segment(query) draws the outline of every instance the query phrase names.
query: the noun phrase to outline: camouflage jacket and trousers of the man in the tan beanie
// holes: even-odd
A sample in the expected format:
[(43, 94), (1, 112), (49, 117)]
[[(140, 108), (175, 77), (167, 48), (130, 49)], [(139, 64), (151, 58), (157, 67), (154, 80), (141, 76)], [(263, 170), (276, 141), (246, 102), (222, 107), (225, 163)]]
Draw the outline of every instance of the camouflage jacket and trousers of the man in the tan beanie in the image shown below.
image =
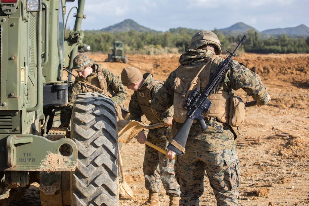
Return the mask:
[[(146, 86), (148, 86), (151, 82), (153, 82), (152, 74), (146, 73), (143, 75), (145, 79), (142, 83), (142, 86), (138, 88), (138, 91), (135, 91), (131, 96), (129, 103), (129, 112), (131, 115), (131, 120), (136, 120), (141, 122), (141, 117), (144, 115), (141, 109), (141, 103), (138, 101), (138, 96), (140, 95), (140, 91), (145, 91)], [(155, 84), (150, 90), (150, 95), (153, 98), (162, 84)], [(144, 94), (145, 96), (145, 94)], [(145, 105), (146, 106), (146, 105)], [(150, 107), (150, 103), (149, 103)], [(149, 108), (150, 109), (150, 108)], [(150, 110), (151, 112), (151, 110)], [(172, 108), (167, 110), (167, 116), (173, 116)], [(150, 124), (158, 123), (151, 122)], [(147, 141), (152, 144), (157, 145), (162, 149), (166, 149), (167, 147), (167, 138), (162, 133), (169, 132), (170, 127), (161, 127), (156, 129), (150, 129), (147, 135)], [(165, 155), (159, 152), (152, 147), (146, 145), (145, 157), (143, 163), (143, 171), (145, 175), (145, 187), (150, 192), (159, 192), (161, 187), (161, 181), (163, 183), (163, 187), (166, 190), (166, 194), (169, 196), (179, 196), (179, 184), (175, 178), (174, 172), (174, 159), (168, 159)], [(161, 179), (161, 180), (160, 180)]]

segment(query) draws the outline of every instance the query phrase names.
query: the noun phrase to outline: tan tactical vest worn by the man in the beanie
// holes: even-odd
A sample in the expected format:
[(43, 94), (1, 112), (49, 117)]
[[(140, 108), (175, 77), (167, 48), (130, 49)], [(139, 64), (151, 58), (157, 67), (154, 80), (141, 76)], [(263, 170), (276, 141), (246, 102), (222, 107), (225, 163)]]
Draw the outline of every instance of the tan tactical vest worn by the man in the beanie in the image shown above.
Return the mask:
[(162, 86), (163, 83), (164, 82), (160, 80), (153, 80), (150, 84), (148, 84), (145, 87), (144, 90), (138, 90), (134, 92), (135, 98), (137, 99), (138, 104), (142, 109), (142, 112), (145, 114), (147, 120), (150, 121), (151, 123), (159, 123), (159, 120), (153, 115), (151, 111), (150, 107), (152, 101), (151, 91), (156, 84), (161, 84)]

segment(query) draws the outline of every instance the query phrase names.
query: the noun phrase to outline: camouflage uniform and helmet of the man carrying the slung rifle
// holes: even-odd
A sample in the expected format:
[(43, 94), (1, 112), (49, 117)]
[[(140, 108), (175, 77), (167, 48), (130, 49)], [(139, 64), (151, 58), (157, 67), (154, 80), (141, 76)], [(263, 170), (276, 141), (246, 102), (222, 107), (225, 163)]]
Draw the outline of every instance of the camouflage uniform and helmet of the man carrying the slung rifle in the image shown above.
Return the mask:
[[(211, 79), (223, 61), (221, 57), (216, 56), (220, 54), (218, 37), (210, 31), (199, 31), (186, 46), (186, 52), (181, 55), (179, 62), (182, 66), (194, 67), (200, 65), (206, 57), (212, 56), (214, 60), (210, 66)], [(176, 72), (177, 69), (171, 72), (151, 102), (153, 114), (162, 123), (168, 121), (167, 108), (174, 104)], [(204, 88), (201, 88), (201, 91)], [(258, 106), (266, 105), (270, 101), (270, 96), (259, 75), (241, 63), (233, 61), (214, 93), (238, 89), (243, 89), (257, 100)], [(240, 171), (235, 151), (235, 133), (228, 124), (219, 122), (217, 117), (208, 117), (204, 120), (208, 126), (205, 132), (201, 130), (199, 123), (193, 123), (185, 145), (185, 153), (182, 156), (176, 156), (175, 172), (180, 184), (180, 205), (199, 205), (199, 197), (204, 191), (205, 171), (217, 205), (238, 205)], [(172, 130), (178, 131), (181, 125), (182, 123), (174, 122)], [(167, 152), (167, 156), (173, 154), (172, 151)]]

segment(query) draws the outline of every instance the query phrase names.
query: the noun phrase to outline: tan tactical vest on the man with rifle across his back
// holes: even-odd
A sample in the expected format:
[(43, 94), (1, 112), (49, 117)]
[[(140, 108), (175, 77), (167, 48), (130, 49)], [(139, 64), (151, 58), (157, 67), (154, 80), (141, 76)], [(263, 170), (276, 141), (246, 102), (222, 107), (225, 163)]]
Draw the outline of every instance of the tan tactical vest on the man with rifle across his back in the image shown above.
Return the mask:
[[(212, 61), (218, 56), (206, 57), (204, 61), (195, 66), (180, 65), (176, 71), (174, 81), (174, 120), (179, 123), (184, 123), (188, 117), (188, 110), (184, 109), (184, 103), (191, 91), (199, 88), (201, 92), (205, 89), (210, 81), (210, 69)], [(205, 118), (217, 117), (219, 121), (228, 123), (230, 99), (234, 94), (232, 92), (220, 91), (217, 94), (209, 96), (212, 101), (210, 109)], [(193, 123), (196, 123), (194, 120)]]

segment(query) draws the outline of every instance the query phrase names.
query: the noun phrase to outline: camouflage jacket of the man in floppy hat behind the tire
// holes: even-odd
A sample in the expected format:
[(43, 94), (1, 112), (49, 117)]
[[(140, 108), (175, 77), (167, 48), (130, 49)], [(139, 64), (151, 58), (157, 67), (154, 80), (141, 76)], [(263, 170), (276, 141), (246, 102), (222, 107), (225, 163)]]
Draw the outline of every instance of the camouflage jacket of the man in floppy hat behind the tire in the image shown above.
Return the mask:
[[(87, 77), (97, 75), (97, 71), (101, 65), (94, 63), (93, 67), (95, 68), (95, 72), (91, 73)], [(111, 89), (115, 92), (115, 95), (111, 99), (113, 100), (115, 107), (117, 107), (125, 101), (127, 90), (125, 89), (125, 86), (122, 85), (118, 76), (115, 76), (112, 72), (104, 68), (102, 68), (102, 73), (107, 82), (107, 90)], [(80, 82), (75, 80), (68, 92), (68, 105), (61, 110), (61, 124), (70, 123), (73, 104), (77, 95), (80, 93), (83, 93), (82, 85)]]

